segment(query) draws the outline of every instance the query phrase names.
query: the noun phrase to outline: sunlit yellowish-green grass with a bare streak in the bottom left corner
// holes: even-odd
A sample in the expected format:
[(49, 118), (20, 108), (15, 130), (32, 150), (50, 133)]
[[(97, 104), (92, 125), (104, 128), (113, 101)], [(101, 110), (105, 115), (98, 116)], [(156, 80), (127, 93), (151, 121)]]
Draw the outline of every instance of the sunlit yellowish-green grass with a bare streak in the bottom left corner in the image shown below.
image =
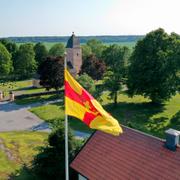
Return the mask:
[(29, 165), (33, 156), (38, 153), (38, 147), (45, 144), (47, 136), (44, 132), (0, 133), (6, 149), (0, 149), (0, 179), (8, 179), (11, 173), (15, 173), (24, 164)]

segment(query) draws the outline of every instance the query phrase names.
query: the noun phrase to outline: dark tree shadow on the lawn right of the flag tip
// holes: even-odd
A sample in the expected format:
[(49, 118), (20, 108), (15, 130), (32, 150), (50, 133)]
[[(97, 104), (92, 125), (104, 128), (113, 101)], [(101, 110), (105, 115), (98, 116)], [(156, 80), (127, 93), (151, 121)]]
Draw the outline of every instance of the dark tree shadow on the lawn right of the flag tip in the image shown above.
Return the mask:
[(140, 131), (161, 136), (158, 132), (161, 124), (166, 122), (166, 118), (151, 119), (152, 116), (163, 112), (164, 105), (147, 103), (127, 103), (120, 102), (116, 106), (108, 104), (104, 108), (111, 112), (121, 124), (138, 129)]

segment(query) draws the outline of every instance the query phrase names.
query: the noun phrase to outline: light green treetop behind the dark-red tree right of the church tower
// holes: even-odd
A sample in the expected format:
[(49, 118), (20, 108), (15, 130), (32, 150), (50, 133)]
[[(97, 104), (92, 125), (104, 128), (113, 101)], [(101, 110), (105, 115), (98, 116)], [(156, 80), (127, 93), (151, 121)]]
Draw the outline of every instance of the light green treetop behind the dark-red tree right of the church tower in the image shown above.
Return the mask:
[(102, 52), (105, 49), (103, 43), (97, 39), (91, 39), (87, 42), (87, 45), (91, 48), (92, 53), (101, 59)]

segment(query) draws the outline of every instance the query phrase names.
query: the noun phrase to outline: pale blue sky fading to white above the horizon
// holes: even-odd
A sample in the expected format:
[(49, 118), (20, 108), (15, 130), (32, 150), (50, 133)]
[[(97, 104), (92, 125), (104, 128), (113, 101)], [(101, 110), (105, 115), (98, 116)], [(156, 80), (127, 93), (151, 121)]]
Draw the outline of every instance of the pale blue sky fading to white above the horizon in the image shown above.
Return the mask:
[(0, 0), (0, 37), (180, 34), (180, 0)]

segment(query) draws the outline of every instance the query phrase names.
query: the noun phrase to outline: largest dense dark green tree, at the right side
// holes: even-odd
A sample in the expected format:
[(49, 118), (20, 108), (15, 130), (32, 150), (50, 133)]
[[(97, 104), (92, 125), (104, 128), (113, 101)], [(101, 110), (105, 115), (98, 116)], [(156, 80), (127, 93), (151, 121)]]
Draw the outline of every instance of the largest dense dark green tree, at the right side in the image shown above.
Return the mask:
[[(128, 93), (149, 97), (153, 103), (168, 100), (176, 93), (178, 40), (163, 29), (148, 33), (138, 41), (131, 56)], [(177, 51), (177, 52), (176, 52)]]

